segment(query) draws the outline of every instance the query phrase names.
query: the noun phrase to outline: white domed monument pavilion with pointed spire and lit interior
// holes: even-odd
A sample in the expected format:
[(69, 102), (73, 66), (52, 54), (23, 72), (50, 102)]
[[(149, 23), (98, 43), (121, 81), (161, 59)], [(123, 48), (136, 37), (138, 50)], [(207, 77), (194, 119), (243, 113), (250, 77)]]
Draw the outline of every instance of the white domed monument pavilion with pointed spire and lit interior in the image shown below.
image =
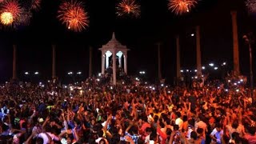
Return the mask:
[(110, 56), (112, 55), (112, 69), (113, 69), (113, 84), (117, 83), (117, 66), (116, 66), (116, 56), (118, 56), (118, 67), (122, 68), (122, 58), (124, 58), (124, 71), (127, 74), (127, 49), (120, 42), (117, 41), (113, 33), (110, 42), (103, 45), (99, 50), (102, 51), (102, 74), (110, 66)]

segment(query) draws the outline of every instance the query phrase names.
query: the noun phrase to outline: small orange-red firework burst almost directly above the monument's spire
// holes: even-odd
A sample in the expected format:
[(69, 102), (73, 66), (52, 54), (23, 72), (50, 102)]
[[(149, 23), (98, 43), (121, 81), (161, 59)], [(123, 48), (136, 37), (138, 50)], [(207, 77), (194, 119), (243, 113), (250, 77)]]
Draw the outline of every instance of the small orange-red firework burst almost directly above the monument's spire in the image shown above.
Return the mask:
[(140, 5), (135, 0), (122, 0), (122, 2), (118, 3), (117, 14), (118, 16), (123, 16), (126, 14), (134, 15), (135, 17), (138, 17), (140, 15)]

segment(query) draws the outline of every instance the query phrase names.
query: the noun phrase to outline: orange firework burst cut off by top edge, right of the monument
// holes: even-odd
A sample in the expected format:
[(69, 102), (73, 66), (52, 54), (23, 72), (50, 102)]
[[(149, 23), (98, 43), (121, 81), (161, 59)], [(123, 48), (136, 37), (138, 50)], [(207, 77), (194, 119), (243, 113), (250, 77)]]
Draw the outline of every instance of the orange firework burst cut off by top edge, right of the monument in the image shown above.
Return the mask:
[(174, 14), (181, 15), (189, 13), (197, 3), (197, 0), (169, 0), (168, 8)]

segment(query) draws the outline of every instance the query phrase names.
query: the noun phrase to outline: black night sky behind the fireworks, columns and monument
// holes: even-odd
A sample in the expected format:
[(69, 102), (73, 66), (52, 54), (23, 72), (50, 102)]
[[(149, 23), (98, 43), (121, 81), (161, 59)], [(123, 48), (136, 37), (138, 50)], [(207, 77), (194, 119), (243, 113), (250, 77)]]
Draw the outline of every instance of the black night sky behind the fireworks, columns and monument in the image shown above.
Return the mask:
[[(233, 39), (230, 10), (238, 10), (238, 37), (242, 74), (249, 74), (249, 52), (242, 35), (255, 32), (256, 16), (248, 14), (243, 0), (200, 0), (190, 14), (175, 16), (167, 9), (167, 0), (138, 0), (140, 18), (117, 18), (117, 0), (86, 0), (90, 27), (82, 33), (66, 30), (56, 18), (61, 0), (42, 0), (42, 8), (33, 14), (30, 26), (18, 30), (0, 30), (0, 81), (12, 75), (12, 45), (18, 46), (18, 76), (24, 72), (39, 71), (38, 79), (51, 77), (51, 45), (57, 45), (57, 75), (69, 81), (67, 72), (82, 71), (88, 77), (89, 46), (93, 46), (93, 72), (101, 71), (101, 52), (113, 31), (116, 38), (126, 45), (128, 73), (145, 70), (154, 82), (157, 78), (158, 54), (156, 42), (162, 42), (162, 77), (173, 81), (176, 66), (175, 35), (180, 35), (182, 68), (196, 66), (195, 26), (201, 26), (202, 64), (227, 62), (233, 64)], [(254, 33), (255, 34), (255, 33)], [(255, 47), (255, 46), (254, 46)], [(255, 50), (254, 50), (255, 51)], [(253, 54), (255, 55), (255, 54)], [(254, 56), (255, 57), (255, 56)], [(255, 62), (255, 58), (253, 60)], [(256, 71), (256, 70), (254, 70)]]

